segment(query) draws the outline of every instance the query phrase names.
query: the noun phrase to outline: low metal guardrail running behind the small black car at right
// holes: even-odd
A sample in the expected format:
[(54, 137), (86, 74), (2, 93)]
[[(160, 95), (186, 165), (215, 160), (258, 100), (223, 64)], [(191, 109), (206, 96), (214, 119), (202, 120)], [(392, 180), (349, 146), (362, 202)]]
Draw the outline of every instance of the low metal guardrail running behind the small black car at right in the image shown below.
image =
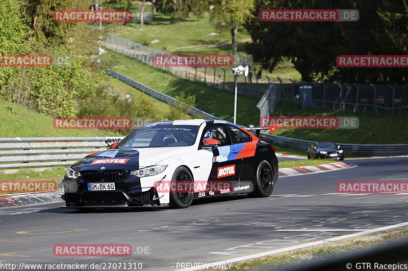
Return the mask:
[[(288, 145), (297, 149), (308, 150), (310, 145), (316, 141), (295, 139), (284, 136), (276, 136), (261, 133), (261, 138), (278, 145)], [(367, 155), (367, 156), (395, 156), (408, 155), (408, 144), (349, 144), (337, 143), (344, 150), (344, 154)], [(305, 153), (306, 154), (306, 153)]]

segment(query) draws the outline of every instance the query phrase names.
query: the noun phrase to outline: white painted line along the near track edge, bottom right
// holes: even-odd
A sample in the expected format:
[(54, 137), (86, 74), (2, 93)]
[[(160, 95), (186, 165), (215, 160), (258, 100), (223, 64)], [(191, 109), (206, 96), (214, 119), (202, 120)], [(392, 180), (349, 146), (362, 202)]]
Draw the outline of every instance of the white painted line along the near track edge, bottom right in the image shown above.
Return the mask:
[[(287, 247), (287, 248), (269, 250), (269, 251), (256, 253), (256, 254), (251, 254), (251, 255), (247, 255), (247, 256), (236, 257), (236, 258), (232, 258), (232, 259), (228, 259), (228, 260), (212, 262), (212, 263), (209, 263), (209, 265), (213, 266), (213, 264), (214, 265), (216, 265), (216, 264), (227, 264), (227, 263), (233, 263), (233, 262), (246, 261), (246, 260), (250, 260), (250, 259), (254, 259), (254, 258), (261, 258), (261, 257), (265, 257), (265, 256), (277, 254), (277, 253), (287, 252), (287, 251), (296, 250), (296, 249), (309, 248), (309, 247), (313, 247), (313, 246), (317, 246), (317, 245), (322, 245), (322, 244), (325, 244), (325, 243), (328, 243), (328, 242), (335, 242), (335, 241), (339, 241), (339, 240), (343, 240), (343, 239), (347, 239), (347, 238), (352, 238), (352, 237), (356, 237), (356, 236), (361, 236), (361, 235), (365, 235), (365, 234), (370, 234), (370, 233), (374, 233), (374, 232), (378, 232), (378, 231), (394, 229), (394, 228), (398, 228), (398, 227), (402, 227), (402, 226), (406, 226), (406, 225), (408, 225), (408, 222), (399, 223), (399, 224), (390, 225), (390, 226), (381, 227), (381, 228), (376, 228), (376, 229), (371, 229), (371, 230), (365, 230), (365, 231), (351, 233), (351, 234), (342, 235), (342, 236), (336, 236), (336, 237), (332, 237), (332, 238), (328, 238), (328, 239), (324, 239), (324, 240), (320, 240), (320, 241), (309, 242), (309, 243), (306, 243), (306, 244), (291, 246), (291, 247)], [(184, 269), (177, 269), (176, 271), (194, 271), (194, 270), (200, 270), (200, 269), (202, 269), (202, 268), (184, 268)]]

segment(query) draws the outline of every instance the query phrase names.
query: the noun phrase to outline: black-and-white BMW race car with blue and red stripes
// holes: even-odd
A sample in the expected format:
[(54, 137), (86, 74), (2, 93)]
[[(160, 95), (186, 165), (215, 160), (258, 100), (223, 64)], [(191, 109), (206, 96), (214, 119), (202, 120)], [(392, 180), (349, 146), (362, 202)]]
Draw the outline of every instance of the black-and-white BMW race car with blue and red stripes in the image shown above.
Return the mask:
[(188, 207), (194, 199), (268, 197), (278, 178), (275, 149), (225, 121), (144, 125), (109, 150), (74, 163), (63, 180), (66, 207)]

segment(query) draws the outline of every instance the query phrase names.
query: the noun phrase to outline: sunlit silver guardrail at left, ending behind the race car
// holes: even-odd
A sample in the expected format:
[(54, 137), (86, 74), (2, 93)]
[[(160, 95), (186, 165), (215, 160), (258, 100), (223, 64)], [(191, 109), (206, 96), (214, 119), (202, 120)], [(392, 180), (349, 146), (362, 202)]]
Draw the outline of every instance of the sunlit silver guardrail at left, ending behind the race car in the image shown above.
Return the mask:
[(71, 165), (107, 149), (123, 137), (11, 137), (0, 138), (0, 170)]

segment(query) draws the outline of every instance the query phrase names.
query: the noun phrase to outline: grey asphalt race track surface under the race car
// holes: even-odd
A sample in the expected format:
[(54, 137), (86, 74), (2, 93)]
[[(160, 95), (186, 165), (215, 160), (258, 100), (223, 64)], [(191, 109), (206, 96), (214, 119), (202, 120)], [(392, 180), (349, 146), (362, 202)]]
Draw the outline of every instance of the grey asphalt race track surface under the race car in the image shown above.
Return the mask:
[[(59, 208), (62, 202), (3, 208), (0, 262), (141, 262), (143, 270), (172, 270), (408, 221), (408, 194), (336, 192), (339, 181), (408, 180), (408, 157), (345, 162), (358, 166), (279, 178), (262, 199), (222, 196), (187, 209), (89, 213)], [(56, 244), (130, 244), (134, 255), (56, 257)]]

